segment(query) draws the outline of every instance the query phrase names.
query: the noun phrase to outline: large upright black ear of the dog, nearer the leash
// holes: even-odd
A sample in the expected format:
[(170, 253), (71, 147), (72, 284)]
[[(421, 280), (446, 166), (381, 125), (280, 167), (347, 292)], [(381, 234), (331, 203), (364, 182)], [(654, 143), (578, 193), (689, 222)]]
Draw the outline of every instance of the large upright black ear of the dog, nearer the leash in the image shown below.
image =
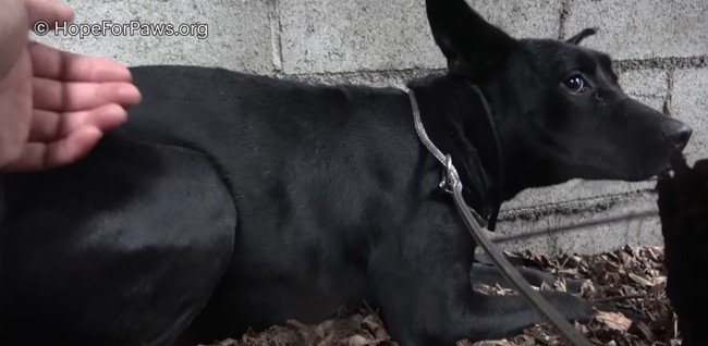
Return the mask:
[(464, 0), (427, 0), (426, 8), (435, 41), (453, 74), (481, 77), (503, 64), (516, 44)]

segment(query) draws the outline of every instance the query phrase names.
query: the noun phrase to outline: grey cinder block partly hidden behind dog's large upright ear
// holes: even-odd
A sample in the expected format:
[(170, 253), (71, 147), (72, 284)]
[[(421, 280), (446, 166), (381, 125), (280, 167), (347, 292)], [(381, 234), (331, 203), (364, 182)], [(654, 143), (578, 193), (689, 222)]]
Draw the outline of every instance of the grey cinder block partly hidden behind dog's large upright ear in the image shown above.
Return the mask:
[[(289, 74), (440, 69), (424, 0), (281, 0), (283, 71)], [(558, 36), (560, 0), (475, 0), (514, 36)]]

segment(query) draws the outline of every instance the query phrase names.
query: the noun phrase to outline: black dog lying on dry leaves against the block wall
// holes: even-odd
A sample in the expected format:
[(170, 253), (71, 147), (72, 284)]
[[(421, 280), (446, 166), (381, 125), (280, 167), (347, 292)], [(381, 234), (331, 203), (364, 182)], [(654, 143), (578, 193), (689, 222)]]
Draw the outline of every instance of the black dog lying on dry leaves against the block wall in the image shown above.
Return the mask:
[[(691, 128), (628, 98), (610, 58), (577, 46), (591, 30), (516, 40), (464, 0), (427, 10), (449, 74), (410, 86), (484, 218), (526, 187), (647, 178), (686, 145)], [(2, 176), (3, 345), (209, 342), (362, 300), (402, 345), (539, 322), (520, 296), (471, 288), (473, 240), (404, 91), (133, 74), (143, 103), (86, 160)], [(546, 296), (588, 317), (571, 295)]]

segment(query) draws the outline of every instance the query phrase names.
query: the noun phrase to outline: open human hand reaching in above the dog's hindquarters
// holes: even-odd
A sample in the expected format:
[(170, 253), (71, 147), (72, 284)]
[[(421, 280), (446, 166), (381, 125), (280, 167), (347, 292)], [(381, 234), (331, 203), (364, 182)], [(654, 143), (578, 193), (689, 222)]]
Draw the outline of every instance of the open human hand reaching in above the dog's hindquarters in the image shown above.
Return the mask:
[(36, 21), (71, 21), (54, 0), (0, 0), (0, 171), (72, 163), (139, 102), (129, 70), (27, 39)]

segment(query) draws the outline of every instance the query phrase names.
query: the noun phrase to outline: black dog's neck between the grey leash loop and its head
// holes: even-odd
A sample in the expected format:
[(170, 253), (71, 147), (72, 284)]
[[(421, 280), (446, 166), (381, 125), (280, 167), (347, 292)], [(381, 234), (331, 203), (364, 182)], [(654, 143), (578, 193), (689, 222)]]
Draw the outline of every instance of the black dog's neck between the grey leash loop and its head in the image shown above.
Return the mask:
[[(484, 100), (465, 79), (428, 76), (412, 82), (432, 143), (450, 153), (465, 186), (465, 200), (493, 227), (503, 193), (503, 160)], [(484, 96), (483, 96), (484, 97)]]

